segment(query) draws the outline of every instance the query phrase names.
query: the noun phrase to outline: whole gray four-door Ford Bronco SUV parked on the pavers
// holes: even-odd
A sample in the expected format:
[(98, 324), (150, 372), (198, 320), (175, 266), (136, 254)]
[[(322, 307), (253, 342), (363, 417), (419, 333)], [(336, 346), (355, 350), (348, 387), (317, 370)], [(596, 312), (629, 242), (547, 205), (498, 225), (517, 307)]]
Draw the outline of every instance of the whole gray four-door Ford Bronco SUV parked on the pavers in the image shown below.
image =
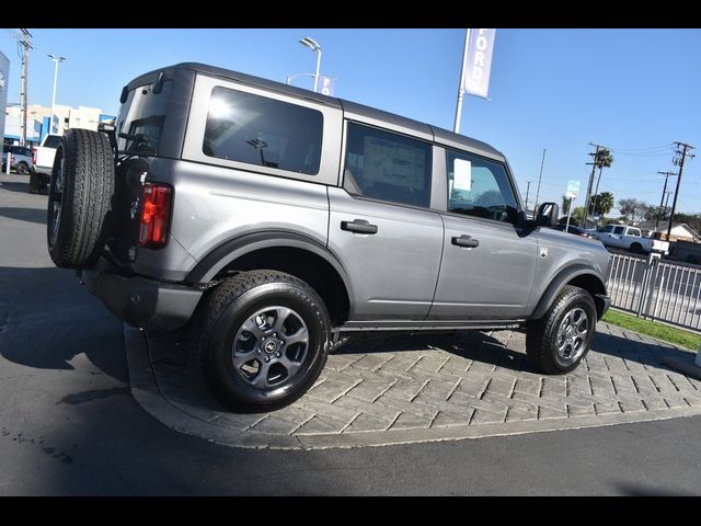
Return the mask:
[(554, 203), (527, 220), (489, 145), (202, 64), (120, 103), (58, 147), (49, 253), (126, 323), (191, 334), (230, 408), (290, 403), (372, 331), (521, 328), (545, 374), (586, 355), (609, 254)]

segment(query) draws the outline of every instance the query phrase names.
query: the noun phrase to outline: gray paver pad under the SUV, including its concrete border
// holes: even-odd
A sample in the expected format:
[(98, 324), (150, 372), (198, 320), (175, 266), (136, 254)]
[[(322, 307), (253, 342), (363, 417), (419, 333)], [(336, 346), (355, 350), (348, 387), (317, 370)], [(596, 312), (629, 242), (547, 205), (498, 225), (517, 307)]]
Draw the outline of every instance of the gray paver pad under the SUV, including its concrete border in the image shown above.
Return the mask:
[(295, 404), (232, 414), (173, 335), (126, 329), (136, 399), (170, 427), (245, 447), (354, 447), (610, 425), (701, 414), (701, 382), (660, 358), (693, 354), (599, 323), (586, 361), (543, 376), (515, 331), (403, 335), (342, 348)]

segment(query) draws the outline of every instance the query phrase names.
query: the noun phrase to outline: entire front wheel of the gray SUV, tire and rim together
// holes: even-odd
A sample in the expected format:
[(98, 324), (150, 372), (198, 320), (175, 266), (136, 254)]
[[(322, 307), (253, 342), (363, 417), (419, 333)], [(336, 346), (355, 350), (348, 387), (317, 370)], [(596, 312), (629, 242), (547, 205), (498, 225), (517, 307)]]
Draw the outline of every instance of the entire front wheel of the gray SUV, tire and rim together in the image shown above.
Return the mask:
[(596, 316), (589, 293), (572, 285), (565, 286), (545, 316), (529, 324), (526, 338), (528, 357), (549, 375), (574, 370), (589, 352)]

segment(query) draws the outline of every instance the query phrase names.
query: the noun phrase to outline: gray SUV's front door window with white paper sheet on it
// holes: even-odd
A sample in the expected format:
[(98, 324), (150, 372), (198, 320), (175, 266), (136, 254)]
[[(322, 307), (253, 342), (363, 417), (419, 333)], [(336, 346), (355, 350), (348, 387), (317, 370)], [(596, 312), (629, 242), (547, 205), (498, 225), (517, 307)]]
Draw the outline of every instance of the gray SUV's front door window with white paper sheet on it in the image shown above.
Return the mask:
[(503, 164), (448, 150), (448, 211), (516, 222), (518, 206)]

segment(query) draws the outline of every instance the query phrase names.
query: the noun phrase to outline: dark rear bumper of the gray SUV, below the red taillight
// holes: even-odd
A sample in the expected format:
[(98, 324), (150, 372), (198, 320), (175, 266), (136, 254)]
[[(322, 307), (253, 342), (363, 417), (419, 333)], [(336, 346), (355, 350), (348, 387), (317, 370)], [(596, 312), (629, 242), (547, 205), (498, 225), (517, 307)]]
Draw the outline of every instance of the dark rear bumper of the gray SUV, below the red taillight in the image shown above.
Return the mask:
[(133, 327), (174, 331), (193, 316), (203, 290), (140, 276), (126, 277), (101, 259), (99, 270), (78, 271), (88, 290)]

